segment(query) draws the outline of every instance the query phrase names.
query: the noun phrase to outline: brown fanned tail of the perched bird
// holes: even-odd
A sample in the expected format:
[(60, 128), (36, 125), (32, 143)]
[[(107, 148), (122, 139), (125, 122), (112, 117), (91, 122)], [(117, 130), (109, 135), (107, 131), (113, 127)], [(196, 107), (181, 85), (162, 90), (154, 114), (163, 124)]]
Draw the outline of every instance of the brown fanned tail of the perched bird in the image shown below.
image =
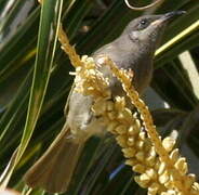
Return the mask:
[(75, 142), (68, 127), (51, 144), (43, 156), (26, 172), (24, 180), (30, 187), (50, 193), (66, 192), (79, 159), (83, 142)]

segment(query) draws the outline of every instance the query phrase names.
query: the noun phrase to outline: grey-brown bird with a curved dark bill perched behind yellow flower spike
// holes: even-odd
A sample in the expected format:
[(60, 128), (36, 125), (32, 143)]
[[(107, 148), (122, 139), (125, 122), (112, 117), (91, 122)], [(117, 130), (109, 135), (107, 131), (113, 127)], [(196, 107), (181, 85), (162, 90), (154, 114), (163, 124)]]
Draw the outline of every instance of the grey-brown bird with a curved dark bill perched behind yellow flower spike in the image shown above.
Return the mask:
[[(152, 77), (152, 61), (156, 49), (168, 23), (184, 11), (159, 15), (144, 15), (131, 21), (122, 34), (105, 44), (91, 56), (95, 63), (102, 55), (108, 56), (119, 68), (131, 69), (133, 86), (142, 94)], [(101, 69), (109, 78), (111, 95), (124, 95), (121, 83), (112, 77), (110, 69)], [(82, 148), (93, 135), (106, 133), (91, 110), (93, 96), (83, 95), (71, 89), (65, 106), (66, 121), (59, 134), (47, 152), (25, 173), (24, 180), (30, 187), (41, 187), (50, 193), (68, 191), (70, 180)]]

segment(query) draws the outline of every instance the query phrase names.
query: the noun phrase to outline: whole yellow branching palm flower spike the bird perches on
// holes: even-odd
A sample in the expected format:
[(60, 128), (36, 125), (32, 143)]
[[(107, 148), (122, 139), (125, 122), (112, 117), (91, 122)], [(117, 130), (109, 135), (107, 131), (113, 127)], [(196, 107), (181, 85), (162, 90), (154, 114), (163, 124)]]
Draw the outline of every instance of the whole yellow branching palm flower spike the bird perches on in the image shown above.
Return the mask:
[[(64, 35), (64, 31), (62, 34)], [(66, 36), (64, 38), (67, 39)], [(142, 187), (147, 187), (149, 195), (198, 195), (199, 184), (194, 174), (187, 173), (186, 159), (180, 156), (177, 148), (173, 150), (175, 140), (168, 136), (161, 141), (158, 135), (147, 106), (131, 83), (133, 73), (118, 69), (107, 57), (102, 57), (98, 62), (108, 65), (121, 81), (127, 95), (141, 114), (147, 131), (142, 130), (136, 114), (133, 115), (125, 106), (124, 98), (117, 96), (110, 101), (108, 79), (104, 78), (92, 57), (83, 56), (80, 61), (67, 40), (62, 48), (68, 55), (72, 55), (69, 57), (76, 67), (75, 90), (93, 96), (92, 110), (103, 118), (107, 130), (116, 135), (127, 158), (125, 164), (140, 173), (134, 178), (135, 181)]]

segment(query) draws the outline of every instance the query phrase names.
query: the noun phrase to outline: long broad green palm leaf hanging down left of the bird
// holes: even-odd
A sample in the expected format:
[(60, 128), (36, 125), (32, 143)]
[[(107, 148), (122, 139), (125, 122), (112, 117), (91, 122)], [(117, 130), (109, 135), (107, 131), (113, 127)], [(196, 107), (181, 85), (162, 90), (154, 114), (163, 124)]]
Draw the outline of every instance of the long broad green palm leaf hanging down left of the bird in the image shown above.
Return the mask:
[(18, 147), (16, 162), (19, 161), (27, 147), (41, 110), (54, 60), (62, 3), (62, 0), (56, 2), (53, 0), (45, 0), (41, 6), (34, 80), (30, 91), (26, 125)]

